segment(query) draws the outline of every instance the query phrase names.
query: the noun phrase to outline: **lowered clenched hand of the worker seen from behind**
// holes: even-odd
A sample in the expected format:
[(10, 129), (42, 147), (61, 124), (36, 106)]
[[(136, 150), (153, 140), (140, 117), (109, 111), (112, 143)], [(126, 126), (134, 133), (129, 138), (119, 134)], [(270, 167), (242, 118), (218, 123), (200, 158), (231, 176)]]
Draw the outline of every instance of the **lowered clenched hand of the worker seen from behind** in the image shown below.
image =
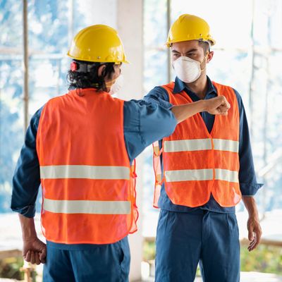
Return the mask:
[(23, 241), (23, 259), (32, 264), (44, 264), (46, 261), (46, 244), (37, 237)]

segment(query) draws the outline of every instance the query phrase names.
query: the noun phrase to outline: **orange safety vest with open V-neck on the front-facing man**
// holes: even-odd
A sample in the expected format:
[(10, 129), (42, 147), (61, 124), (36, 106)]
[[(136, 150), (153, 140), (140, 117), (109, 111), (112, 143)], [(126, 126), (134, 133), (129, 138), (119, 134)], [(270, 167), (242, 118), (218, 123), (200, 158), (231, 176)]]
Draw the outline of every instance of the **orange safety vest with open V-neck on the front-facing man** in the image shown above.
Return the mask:
[[(154, 142), (154, 171), (156, 185), (154, 207), (157, 207), (161, 184), (173, 204), (200, 207), (210, 194), (221, 207), (233, 207), (242, 197), (239, 172), (239, 110), (234, 90), (212, 82), (218, 95), (231, 104), (228, 116), (215, 116), (209, 133), (198, 113), (179, 123), (176, 130), (159, 143)], [(174, 82), (163, 85), (173, 105), (192, 103), (185, 91), (173, 94)], [(164, 178), (161, 180), (162, 153)]]

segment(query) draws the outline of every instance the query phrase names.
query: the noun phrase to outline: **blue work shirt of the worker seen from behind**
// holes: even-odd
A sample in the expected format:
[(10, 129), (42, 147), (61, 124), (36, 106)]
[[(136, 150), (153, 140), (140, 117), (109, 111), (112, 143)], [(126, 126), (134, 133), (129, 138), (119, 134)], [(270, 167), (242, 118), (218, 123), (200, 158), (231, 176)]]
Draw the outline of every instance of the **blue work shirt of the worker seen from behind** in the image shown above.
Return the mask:
[[(34, 116), (25, 135), (25, 143), (20, 151), (20, 157), (13, 176), (13, 193), (11, 209), (23, 216), (35, 216), (35, 202), (40, 185), (39, 160), (36, 152), (36, 137), (42, 106)], [(152, 142), (171, 135), (176, 128), (176, 118), (167, 107), (145, 102), (130, 100), (123, 106), (123, 131), (125, 147), (130, 163)], [(90, 146), (94, 146), (90, 144)], [(50, 243), (50, 242), (49, 242)], [(56, 244), (64, 249), (81, 249), (81, 245), (90, 244)]]

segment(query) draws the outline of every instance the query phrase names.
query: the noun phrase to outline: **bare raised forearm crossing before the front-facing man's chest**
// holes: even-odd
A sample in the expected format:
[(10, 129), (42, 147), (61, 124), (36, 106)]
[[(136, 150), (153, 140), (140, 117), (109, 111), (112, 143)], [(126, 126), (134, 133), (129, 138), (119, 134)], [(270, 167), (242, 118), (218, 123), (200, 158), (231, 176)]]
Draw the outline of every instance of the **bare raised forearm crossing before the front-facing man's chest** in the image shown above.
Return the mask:
[(205, 111), (206, 109), (206, 102), (204, 100), (200, 100), (190, 104), (183, 104), (179, 106), (173, 106), (171, 111), (173, 112), (174, 116), (178, 123), (181, 121), (185, 121), (186, 118), (190, 118), (197, 113)]

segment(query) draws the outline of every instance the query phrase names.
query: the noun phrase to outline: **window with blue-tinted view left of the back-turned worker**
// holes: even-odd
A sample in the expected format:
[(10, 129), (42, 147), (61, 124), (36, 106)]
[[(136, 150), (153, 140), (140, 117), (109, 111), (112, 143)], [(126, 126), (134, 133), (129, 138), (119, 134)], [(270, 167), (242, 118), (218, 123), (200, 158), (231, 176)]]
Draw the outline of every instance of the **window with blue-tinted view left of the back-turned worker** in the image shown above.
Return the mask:
[(29, 95), (24, 99), (23, 3), (3, 0), (0, 4), (0, 213), (11, 212), (11, 181), (25, 121), (51, 97), (67, 92), (66, 53), (73, 35), (95, 23), (116, 25), (115, 0), (99, 6), (97, 1), (27, 0)]

